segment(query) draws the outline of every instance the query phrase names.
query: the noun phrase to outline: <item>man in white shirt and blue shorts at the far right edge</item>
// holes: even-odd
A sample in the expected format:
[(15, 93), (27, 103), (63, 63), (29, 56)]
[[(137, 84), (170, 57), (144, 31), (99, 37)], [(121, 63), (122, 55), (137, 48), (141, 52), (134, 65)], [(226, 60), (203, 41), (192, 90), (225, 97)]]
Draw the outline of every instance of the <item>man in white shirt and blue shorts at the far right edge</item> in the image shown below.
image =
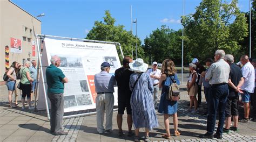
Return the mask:
[(255, 79), (255, 71), (252, 63), (249, 61), (249, 57), (247, 55), (242, 55), (240, 58), (240, 62), (242, 65), (242, 77), (244, 77), (244, 84), (241, 86), (241, 90), (244, 92), (241, 94), (242, 103), (244, 103), (244, 111), (245, 116), (243, 119), (240, 119), (239, 122), (249, 122), (249, 112), (250, 112), (250, 101), (251, 95), (254, 92), (254, 79)]

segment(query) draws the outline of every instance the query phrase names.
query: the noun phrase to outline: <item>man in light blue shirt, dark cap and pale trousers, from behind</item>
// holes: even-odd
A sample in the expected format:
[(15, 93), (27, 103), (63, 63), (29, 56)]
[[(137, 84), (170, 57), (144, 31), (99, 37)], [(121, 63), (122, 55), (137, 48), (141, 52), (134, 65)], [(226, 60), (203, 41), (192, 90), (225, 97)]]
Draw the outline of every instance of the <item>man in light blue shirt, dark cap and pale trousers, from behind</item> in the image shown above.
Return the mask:
[[(96, 110), (97, 110), (97, 131), (99, 134), (111, 133), (112, 131), (112, 118), (114, 106), (114, 85), (116, 80), (113, 75), (109, 74), (110, 64), (103, 62), (100, 65), (102, 72), (94, 77), (96, 97)], [(106, 111), (106, 127), (104, 129), (104, 112)]]

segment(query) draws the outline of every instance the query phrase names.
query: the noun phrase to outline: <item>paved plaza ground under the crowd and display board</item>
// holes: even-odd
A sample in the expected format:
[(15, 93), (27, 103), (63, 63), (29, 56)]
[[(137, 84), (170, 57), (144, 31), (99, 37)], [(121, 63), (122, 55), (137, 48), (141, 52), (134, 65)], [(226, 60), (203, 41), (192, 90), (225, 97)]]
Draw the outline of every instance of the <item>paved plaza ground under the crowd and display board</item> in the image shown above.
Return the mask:
[[(161, 138), (165, 133), (164, 117), (157, 113), (159, 127), (150, 131), (152, 141), (256, 141), (256, 122), (239, 123), (239, 131), (224, 133), (223, 139), (201, 139), (200, 134), (206, 132), (207, 116), (203, 116), (206, 106), (203, 104), (199, 113), (187, 112), (189, 97), (186, 93), (185, 83), (181, 84), (181, 100), (178, 105), (178, 129), (181, 135), (171, 137), (171, 140)], [(204, 95), (203, 95), (204, 96)], [(6, 86), (0, 86), (0, 141), (133, 141), (133, 137), (118, 137), (116, 122), (117, 111), (113, 113), (113, 131), (110, 134), (98, 134), (96, 130), (96, 115), (64, 119), (64, 131), (67, 136), (54, 136), (50, 133), (50, 122), (47, 120), (46, 111), (22, 110), (8, 108), (8, 91)], [(28, 107), (28, 106), (27, 106)], [(239, 109), (242, 116), (242, 108)], [(127, 134), (126, 116), (123, 117), (123, 130)], [(218, 123), (218, 120), (217, 120)], [(170, 117), (171, 133), (174, 133), (172, 117)], [(143, 141), (144, 129), (140, 130)]]

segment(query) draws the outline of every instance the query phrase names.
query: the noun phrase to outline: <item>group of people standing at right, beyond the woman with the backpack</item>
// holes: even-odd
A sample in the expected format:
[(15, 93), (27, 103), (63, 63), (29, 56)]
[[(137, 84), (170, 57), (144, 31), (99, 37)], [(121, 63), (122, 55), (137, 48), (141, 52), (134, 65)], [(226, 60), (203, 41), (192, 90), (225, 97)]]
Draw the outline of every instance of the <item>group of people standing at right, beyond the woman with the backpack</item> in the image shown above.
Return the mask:
[[(193, 61), (195, 60), (197, 59)], [(207, 102), (207, 132), (201, 135), (201, 138), (221, 139), (223, 132), (238, 131), (238, 122), (249, 122), (249, 115), (251, 115), (252, 121), (256, 121), (254, 93), (256, 60), (250, 62), (247, 55), (242, 55), (240, 62), (243, 65), (242, 68), (235, 65), (233, 55), (225, 54), (223, 50), (219, 49), (215, 51), (214, 61), (211, 58), (205, 60), (208, 68), (203, 72), (196, 71), (199, 69), (197, 63), (189, 64), (190, 76), (187, 82), (187, 91), (190, 96), (190, 108), (188, 111), (191, 111), (194, 106), (194, 110), (191, 112), (197, 112), (200, 101), (196, 96), (198, 92), (201, 92), (199, 87), (201, 84), (204, 86)], [(244, 104), (244, 118), (240, 120), (238, 118), (239, 95)], [(200, 98), (198, 97), (198, 99)], [(253, 108), (251, 111), (250, 102)], [(217, 112), (219, 114), (218, 128), (214, 133)], [(231, 117), (233, 117), (233, 126), (231, 126)]]

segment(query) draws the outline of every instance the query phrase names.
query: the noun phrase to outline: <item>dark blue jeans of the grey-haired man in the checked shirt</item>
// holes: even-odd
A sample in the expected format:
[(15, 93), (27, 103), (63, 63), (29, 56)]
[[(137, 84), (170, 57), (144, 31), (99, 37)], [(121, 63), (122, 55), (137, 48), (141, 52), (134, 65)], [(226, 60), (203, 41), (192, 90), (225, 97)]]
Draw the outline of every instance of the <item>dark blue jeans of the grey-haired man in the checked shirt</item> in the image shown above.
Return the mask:
[(227, 103), (227, 96), (228, 96), (228, 85), (227, 83), (221, 84), (213, 84), (211, 87), (212, 94), (208, 97), (209, 103), (209, 114), (207, 117), (207, 133), (213, 134), (215, 122), (216, 122), (216, 114), (217, 109), (219, 113), (219, 123), (217, 128), (217, 134), (223, 133), (223, 126), (225, 121), (225, 108)]

